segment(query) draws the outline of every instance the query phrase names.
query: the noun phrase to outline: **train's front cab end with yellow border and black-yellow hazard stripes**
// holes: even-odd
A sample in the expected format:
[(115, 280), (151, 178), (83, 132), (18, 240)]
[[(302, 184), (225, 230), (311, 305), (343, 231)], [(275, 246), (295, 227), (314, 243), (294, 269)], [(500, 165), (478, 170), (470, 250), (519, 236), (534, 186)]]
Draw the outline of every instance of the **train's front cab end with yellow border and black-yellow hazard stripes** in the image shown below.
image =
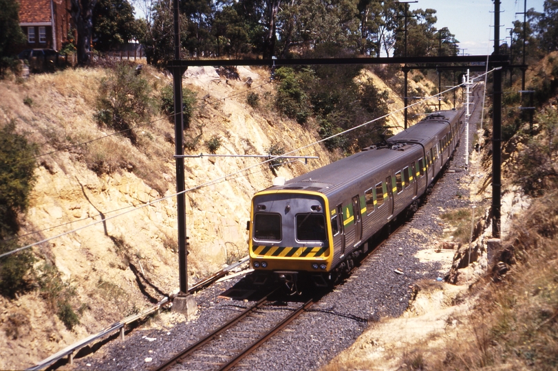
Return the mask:
[[(300, 273), (325, 286), (332, 265), (332, 227), (328, 198), (319, 192), (268, 190), (252, 201), (249, 231), (250, 266), (259, 274), (256, 283), (270, 275), (296, 286)], [(292, 287), (290, 287), (292, 289)]]

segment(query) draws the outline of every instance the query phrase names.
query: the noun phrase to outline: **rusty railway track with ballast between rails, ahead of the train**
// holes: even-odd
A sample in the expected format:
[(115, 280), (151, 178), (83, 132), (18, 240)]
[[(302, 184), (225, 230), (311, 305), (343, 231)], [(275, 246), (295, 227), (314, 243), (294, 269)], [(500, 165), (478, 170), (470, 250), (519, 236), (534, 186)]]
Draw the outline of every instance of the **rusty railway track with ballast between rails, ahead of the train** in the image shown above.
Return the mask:
[[(155, 370), (229, 370), (281, 329), (288, 326), (292, 320), (307, 311), (317, 301), (312, 298), (303, 304), (281, 303), (281, 305), (277, 305), (277, 302), (271, 300), (277, 290), (275, 289), (252, 306), (244, 309), (224, 325), (169, 361), (162, 363)], [(290, 313), (281, 316), (284, 311)]]

